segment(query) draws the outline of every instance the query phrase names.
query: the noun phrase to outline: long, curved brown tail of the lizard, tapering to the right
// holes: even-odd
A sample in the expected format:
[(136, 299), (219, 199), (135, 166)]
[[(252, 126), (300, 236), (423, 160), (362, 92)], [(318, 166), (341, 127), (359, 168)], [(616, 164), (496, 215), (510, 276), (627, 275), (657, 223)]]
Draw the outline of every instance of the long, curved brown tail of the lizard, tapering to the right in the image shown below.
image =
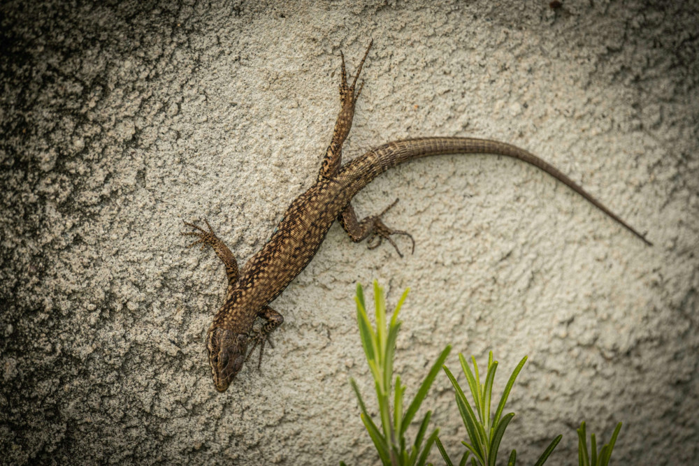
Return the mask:
[(617, 214), (614, 214), (614, 212), (605, 207), (603, 203), (593, 198), (591, 194), (588, 194), (587, 191), (562, 173), (561, 170), (543, 161), (538, 156), (531, 154), (531, 152), (495, 140), (476, 138), (417, 138), (398, 140), (370, 150), (366, 154), (363, 154), (363, 156), (347, 163), (340, 169), (336, 179), (341, 180), (344, 177), (348, 182), (348, 189), (354, 191), (351, 194), (351, 196), (354, 197), (354, 194), (359, 192), (366, 184), (389, 168), (412, 159), (438, 154), (497, 154), (514, 157), (514, 159), (531, 163), (531, 165), (552, 175), (556, 180), (559, 180), (577, 194), (584, 197), (589, 203), (614, 219), (614, 221), (617, 221), (621, 226), (624, 226), (624, 228), (636, 235), (644, 243), (652, 246), (652, 243), (649, 242), (644, 235), (638, 233), (634, 228), (628, 225), (626, 221), (620, 219)]

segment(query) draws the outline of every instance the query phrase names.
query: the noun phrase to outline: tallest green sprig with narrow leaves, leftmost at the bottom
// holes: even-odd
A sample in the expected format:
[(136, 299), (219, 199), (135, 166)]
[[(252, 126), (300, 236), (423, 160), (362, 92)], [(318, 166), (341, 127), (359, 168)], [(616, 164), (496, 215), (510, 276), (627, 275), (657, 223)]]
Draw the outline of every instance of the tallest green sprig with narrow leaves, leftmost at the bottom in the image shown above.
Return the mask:
[[(437, 438), (438, 429), (428, 435), (424, 447), (422, 446), (427, 425), (432, 416), (432, 412), (425, 414), (417, 431), (415, 440), (408, 446), (405, 440), (405, 431), (415, 417), (422, 401), (432, 385), (435, 377), (444, 364), (452, 347), (447, 346), (435, 361), (427, 377), (422, 382), (415, 398), (413, 398), (408, 409), (403, 410), (403, 394), (405, 385), (401, 384), (401, 377), (396, 377), (395, 387), (391, 393), (393, 381), (394, 352), (396, 349), (396, 337), (401, 328), (401, 321), (398, 321), (398, 312), (408, 296), (408, 289), (405, 290), (401, 299), (398, 300), (396, 310), (387, 323), (386, 301), (384, 291), (374, 282), (374, 303), (376, 310), (376, 329), (372, 328), (369, 317), (366, 313), (364, 303), (364, 291), (361, 284), (356, 286), (356, 320), (359, 325), (359, 335), (361, 345), (366, 354), (366, 362), (369, 365), (374, 379), (376, 398), (381, 418), (381, 429), (377, 428), (372, 418), (369, 416), (366, 405), (359, 393), (359, 387), (354, 379), (350, 378), (352, 389), (356, 393), (361, 409), (361, 421), (369, 432), (372, 442), (376, 446), (379, 458), (384, 465), (424, 465), (426, 458)], [(393, 399), (393, 413), (391, 414), (391, 398)]]

